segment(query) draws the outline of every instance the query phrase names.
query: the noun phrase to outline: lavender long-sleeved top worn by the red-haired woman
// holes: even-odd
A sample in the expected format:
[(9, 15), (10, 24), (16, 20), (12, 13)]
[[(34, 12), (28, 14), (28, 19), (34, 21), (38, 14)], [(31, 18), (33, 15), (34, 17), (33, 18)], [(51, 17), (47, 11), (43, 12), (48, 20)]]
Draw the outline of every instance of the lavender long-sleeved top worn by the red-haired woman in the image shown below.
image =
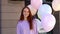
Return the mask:
[(17, 34), (38, 34), (35, 20), (33, 20), (33, 26), (33, 30), (30, 30), (28, 21), (19, 21), (17, 24)]

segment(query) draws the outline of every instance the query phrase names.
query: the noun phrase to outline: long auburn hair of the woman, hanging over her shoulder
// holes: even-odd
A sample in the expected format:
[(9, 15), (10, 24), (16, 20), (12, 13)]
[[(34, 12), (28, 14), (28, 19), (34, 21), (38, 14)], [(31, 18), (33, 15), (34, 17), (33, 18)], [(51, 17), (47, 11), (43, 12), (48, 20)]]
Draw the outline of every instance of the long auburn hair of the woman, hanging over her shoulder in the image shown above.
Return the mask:
[(29, 9), (28, 7), (24, 7), (24, 8), (22, 9), (22, 12), (21, 12), (21, 16), (20, 16), (19, 21), (20, 21), (20, 20), (24, 20), (23, 11), (24, 11), (25, 8), (27, 8), (27, 9), (29, 10), (29, 16), (27, 17), (27, 20), (28, 20), (28, 23), (29, 23), (29, 26), (30, 26), (30, 30), (31, 30), (31, 29), (33, 29), (33, 23), (32, 23), (33, 18), (32, 18), (31, 11), (30, 11), (30, 9)]

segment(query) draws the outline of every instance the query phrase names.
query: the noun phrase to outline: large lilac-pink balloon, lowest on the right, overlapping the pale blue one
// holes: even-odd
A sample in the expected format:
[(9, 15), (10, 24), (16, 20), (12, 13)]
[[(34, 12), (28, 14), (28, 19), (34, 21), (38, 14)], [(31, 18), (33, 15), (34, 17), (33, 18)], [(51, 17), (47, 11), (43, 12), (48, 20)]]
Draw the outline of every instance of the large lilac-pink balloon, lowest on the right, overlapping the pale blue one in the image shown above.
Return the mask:
[(41, 24), (46, 32), (51, 31), (56, 23), (56, 19), (52, 14), (46, 14), (42, 16)]

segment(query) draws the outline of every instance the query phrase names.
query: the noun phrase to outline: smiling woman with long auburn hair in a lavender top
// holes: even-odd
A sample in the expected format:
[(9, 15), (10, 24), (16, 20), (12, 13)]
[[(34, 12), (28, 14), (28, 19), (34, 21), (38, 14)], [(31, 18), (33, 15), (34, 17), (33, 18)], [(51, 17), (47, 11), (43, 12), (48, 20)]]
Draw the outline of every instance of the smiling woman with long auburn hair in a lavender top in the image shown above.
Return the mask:
[(38, 34), (36, 21), (32, 18), (28, 7), (24, 7), (22, 10), (20, 20), (17, 24), (17, 34)]

